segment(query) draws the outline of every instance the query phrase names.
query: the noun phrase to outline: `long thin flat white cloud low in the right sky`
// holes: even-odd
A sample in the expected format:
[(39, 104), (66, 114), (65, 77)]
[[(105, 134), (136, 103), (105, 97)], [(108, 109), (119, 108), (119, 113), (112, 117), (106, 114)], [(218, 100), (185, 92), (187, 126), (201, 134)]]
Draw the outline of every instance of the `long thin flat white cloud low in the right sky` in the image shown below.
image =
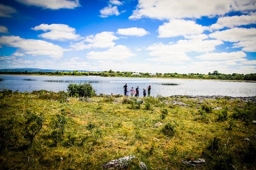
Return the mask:
[(233, 60), (246, 57), (244, 52), (231, 52), (231, 53), (205, 53), (196, 58), (201, 60)]

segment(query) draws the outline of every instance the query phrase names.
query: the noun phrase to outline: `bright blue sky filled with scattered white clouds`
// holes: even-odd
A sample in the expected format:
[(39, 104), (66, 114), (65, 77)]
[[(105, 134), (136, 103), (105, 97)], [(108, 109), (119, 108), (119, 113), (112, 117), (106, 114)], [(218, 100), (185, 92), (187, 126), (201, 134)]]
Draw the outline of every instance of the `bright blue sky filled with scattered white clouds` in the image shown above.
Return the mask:
[(1, 0), (0, 69), (256, 73), (256, 0)]

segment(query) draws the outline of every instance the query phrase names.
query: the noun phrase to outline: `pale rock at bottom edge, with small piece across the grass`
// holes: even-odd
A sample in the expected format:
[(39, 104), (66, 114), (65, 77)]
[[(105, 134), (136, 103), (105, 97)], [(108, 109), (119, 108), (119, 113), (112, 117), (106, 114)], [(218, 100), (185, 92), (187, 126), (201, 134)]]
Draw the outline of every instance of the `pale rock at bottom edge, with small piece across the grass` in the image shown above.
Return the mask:
[[(129, 167), (129, 164), (132, 162), (133, 159), (135, 159), (136, 157), (133, 155), (130, 156), (125, 156), (119, 159), (114, 159), (111, 160), (110, 162), (108, 162), (107, 164), (102, 165), (102, 168), (105, 170), (108, 169), (126, 169)], [(148, 169), (146, 164), (143, 162), (140, 162), (140, 169), (141, 170), (146, 170)]]

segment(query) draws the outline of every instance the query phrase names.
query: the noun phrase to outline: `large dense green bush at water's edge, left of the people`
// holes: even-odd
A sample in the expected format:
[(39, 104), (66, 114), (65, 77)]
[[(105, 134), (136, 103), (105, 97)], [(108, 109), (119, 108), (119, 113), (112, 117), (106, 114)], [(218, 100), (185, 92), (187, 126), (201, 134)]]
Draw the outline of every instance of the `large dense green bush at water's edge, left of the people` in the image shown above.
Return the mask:
[(95, 90), (90, 83), (69, 84), (68, 94), (71, 97), (92, 97), (95, 96)]

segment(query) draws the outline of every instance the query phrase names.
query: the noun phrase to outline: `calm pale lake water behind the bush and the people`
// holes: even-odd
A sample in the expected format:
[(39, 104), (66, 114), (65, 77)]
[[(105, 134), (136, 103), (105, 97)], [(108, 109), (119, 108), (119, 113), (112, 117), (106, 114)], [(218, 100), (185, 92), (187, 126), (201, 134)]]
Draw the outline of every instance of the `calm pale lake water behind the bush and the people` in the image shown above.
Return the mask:
[[(256, 83), (231, 82), (214, 80), (188, 80), (188, 79), (156, 79), (156, 78), (121, 78), (121, 77), (57, 77), (42, 75), (0, 75), (0, 90), (9, 89), (19, 92), (34, 90), (67, 91), (70, 83), (90, 83), (97, 94), (123, 95), (123, 86), (127, 83), (128, 89), (137, 86), (142, 96), (143, 88), (151, 85), (151, 96), (256, 96)], [(53, 82), (55, 81), (55, 82)], [(167, 86), (163, 83), (175, 83), (177, 86)]]

